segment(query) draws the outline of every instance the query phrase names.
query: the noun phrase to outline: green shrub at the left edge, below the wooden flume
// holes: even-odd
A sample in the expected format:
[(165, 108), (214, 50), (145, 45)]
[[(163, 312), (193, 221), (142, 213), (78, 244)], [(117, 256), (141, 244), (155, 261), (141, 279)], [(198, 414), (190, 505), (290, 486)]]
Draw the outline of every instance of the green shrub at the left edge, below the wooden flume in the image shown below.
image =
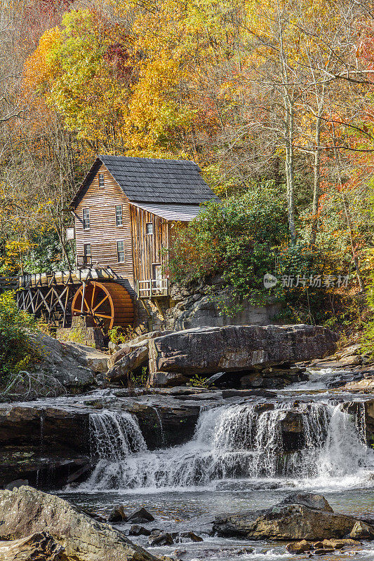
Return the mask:
[(34, 316), (18, 310), (14, 292), (0, 295), (0, 377), (25, 369), (37, 358), (28, 337), (37, 325)]

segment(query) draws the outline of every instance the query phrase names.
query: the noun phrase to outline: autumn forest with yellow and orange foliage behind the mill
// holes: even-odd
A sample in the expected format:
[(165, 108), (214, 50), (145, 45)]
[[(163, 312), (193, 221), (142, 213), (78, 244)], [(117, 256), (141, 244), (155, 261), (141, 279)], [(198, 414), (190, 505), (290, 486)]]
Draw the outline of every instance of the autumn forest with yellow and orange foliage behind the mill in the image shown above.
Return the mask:
[(173, 278), (373, 325), (372, 2), (2, 0), (0, 81), (0, 276), (74, 263), (67, 205), (96, 154), (189, 159), (222, 203)]

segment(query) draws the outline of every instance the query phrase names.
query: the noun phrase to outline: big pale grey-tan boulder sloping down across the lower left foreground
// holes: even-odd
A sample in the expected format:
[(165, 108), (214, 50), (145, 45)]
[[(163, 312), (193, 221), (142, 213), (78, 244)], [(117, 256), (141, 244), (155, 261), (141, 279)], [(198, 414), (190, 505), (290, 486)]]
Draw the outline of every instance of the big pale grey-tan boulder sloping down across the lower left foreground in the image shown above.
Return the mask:
[(22, 539), (47, 529), (65, 548), (69, 561), (156, 559), (121, 532), (93, 520), (58, 496), (32, 487), (0, 492), (0, 539)]

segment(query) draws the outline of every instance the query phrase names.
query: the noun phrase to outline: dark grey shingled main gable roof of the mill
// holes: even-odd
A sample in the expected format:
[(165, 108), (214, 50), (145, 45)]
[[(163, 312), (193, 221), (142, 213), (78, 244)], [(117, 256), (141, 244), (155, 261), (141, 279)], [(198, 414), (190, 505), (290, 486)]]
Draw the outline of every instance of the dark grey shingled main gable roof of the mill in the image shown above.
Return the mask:
[(103, 163), (119, 187), (133, 202), (198, 205), (217, 198), (192, 161), (98, 156), (72, 201), (84, 196), (98, 163)]

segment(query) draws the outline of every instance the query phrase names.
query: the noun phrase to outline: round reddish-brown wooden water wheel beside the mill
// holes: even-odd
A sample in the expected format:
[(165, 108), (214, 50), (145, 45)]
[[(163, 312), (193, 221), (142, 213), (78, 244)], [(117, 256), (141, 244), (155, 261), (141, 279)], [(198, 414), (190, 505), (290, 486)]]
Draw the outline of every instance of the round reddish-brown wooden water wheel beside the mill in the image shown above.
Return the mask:
[(72, 315), (88, 316), (93, 325), (107, 332), (116, 325), (133, 325), (133, 300), (126, 288), (118, 283), (88, 283), (76, 291)]

